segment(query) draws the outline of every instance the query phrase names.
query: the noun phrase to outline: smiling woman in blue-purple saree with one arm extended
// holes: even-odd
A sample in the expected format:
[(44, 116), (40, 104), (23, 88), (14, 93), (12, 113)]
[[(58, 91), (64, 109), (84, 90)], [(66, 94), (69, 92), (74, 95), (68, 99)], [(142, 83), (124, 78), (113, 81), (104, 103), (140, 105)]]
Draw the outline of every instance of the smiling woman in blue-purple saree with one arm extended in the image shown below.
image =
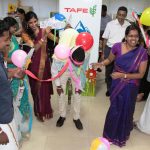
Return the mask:
[(147, 66), (147, 52), (138, 45), (140, 30), (130, 25), (125, 31), (125, 42), (112, 47), (108, 59), (95, 63), (95, 69), (114, 61), (110, 107), (106, 116), (103, 137), (120, 147), (126, 144), (133, 129), (133, 114), (138, 94), (139, 80)]

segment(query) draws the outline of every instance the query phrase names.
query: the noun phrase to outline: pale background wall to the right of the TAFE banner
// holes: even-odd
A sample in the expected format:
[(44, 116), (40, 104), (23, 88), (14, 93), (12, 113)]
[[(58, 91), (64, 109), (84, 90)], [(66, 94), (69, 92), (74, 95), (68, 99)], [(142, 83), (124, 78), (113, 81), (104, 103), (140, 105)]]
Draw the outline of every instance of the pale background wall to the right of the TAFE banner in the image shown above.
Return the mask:
[[(111, 3), (110, 3), (111, 1)], [(107, 5), (108, 14), (115, 16), (120, 6), (128, 8), (128, 19), (132, 19), (131, 12), (137, 11), (142, 12), (145, 8), (150, 7), (150, 0), (103, 0), (103, 4)]]

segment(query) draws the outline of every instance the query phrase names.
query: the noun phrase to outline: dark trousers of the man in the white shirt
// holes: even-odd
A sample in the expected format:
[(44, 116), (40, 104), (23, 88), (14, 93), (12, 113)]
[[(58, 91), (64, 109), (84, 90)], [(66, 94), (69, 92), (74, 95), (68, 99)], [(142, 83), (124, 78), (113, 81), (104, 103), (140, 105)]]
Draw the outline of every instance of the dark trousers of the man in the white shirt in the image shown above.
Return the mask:
[[(106, 46), (104, 49), (104, 58), (108, 58), (109, 54), (111, 51), (111, 47)], [(110, 92), (110, 87), (111, 87), (111, 82), (112, 82), (112, 78), (111, 78), (111, 74), (113, 72), (113, 68), (114, 68), (114, 62), (112, 62), (111, 64), (107, 65), (105, 67), (105, 82), (107, 85), (107, 91)]]

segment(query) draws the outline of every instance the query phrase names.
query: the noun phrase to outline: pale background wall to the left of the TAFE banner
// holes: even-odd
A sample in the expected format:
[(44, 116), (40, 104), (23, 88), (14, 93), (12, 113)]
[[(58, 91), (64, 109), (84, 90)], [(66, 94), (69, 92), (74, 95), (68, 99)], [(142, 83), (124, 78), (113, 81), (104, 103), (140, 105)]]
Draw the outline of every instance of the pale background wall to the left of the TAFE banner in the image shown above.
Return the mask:
[[(0, 0), (0, 17), (6, 17), (8, 3), (16, 3), (17, 0)], [(39, 18), (49, 17), (49, 12), (58, 11), (59, 0), (21, 0), (22, 5), (32, 6)]]

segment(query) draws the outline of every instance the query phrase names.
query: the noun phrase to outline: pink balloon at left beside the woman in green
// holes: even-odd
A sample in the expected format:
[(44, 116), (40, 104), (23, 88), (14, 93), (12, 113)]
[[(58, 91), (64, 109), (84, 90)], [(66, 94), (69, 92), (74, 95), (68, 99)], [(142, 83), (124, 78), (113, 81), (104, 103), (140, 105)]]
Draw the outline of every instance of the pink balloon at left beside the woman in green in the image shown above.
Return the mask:
[(11, 60), (14, 65), (16, 65), (19, 68), (22, 68), (25, 63), (26, 57), (27, 57), (27, 53), (25, 51), (16, 50), (15, 52), (13, 52), (11, 56)]

